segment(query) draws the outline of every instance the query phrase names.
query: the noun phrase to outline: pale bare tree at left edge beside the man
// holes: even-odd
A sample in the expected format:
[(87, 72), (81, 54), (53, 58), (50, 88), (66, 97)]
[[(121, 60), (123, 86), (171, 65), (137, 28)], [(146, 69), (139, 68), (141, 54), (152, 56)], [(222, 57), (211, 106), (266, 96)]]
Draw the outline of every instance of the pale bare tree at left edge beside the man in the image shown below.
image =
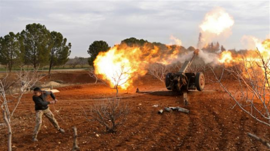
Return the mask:
[[(9, 73), (6, 74), (3, 78), (0, 79), (0, 102), (1, 102), (1, 109), (2, 109), (2, 114), (3, 114), (3, 119), (5, 121), (5, 125), (7, 126), (8, 129), (8, 141), (7, 141), (7, 146), (8, 146), (8, 151), (11, 151), (11, 143), (12, 143), (12, 129), (11, 129), (11, 118), (15, 113), (16, 108), (18, 107), (20, 100), (22, 98), (22, 95), (25, 93), (24, 85), (22, 83), (27, 84), (27, 87), (24, 88), (31, 88), (34, 86), (34, 84), (41, 78), (41, 76), (38, 76), (37, 71), (30, 71), (30, 70), (21, 70), (17, 74), (18, 78), (15, 80), (18, 86), (18, 91), (19, 93), (12, 92), (11, 85), (10, 84), (10, 75)], [(12, 88), (14, 89), (14, 87)], [(8, 94), (9, 93), (9, 94)], [(15, 104), (14, 104), (15, 103)], [(10, 110), (10, 105), (12, 107), (12, 110)]]

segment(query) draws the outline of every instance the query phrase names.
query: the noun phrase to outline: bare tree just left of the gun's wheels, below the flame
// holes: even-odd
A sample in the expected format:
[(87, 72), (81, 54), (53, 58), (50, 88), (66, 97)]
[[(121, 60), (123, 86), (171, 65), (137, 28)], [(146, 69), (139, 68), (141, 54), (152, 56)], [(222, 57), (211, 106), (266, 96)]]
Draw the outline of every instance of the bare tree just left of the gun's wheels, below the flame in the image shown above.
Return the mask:
[(163, 64), (151, 64), (148, 68), (148, 74), (154, 76), (161, 82), (165, 83), (166, 74), (173, 70), (173, 66)]

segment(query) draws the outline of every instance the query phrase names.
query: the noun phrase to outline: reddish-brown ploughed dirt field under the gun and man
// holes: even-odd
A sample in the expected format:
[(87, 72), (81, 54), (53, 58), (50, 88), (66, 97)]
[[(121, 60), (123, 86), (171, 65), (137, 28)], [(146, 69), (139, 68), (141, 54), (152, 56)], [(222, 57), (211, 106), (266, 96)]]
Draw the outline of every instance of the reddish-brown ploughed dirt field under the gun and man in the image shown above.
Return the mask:
[[(209, 77), (206, 75), (206, 79)], [(238, 107), (231, 109), (234, 105), (232, 100), (221, 91), (219, 85), (208, 80), (205, 89), (214, 91), (188, 93), (190, 104), (185, 107), (181, 95), (168, 95), (166, 92), (144, 95), (135, 93), (137, 87), (141, 91), (165, 91), (164, 85), (151, 76), (138, 79), (134, 88), (120, 91), (119, 94), (120, 97), (130, 96), (122, 98), (122, 101), (128, 102), (132, 107), (127, 123), (116, 134), (109, 134), (104, 132), (105, 128), (98, 122), (87, 121), (81, 107), (88, 109), (95, 103), (83, 99), (113, 97), (115, 95), (113, 89), (92, 83), (94, 79), (90, 79), (83, 72), (55, 73), (52, 79), (85, 83), (58, 88), (60, 93), (55, 95), (59, 101), (55, 105), (50, 105), (50, 109), (66, 133), (58, 133), (48, 119), (43, 117), (39, 141), (32, 142), (35, 110), (32, 94), (26, 94), (12, 119), (13, 150), (69, 151), (73, 143), (74, 125), (78, 129), (78, 145), (81, 151), (267, 150), (265, 146), (247, 137), (247, 132), (269, 141), (269, 127), (254, 121)], [(225, 83), (230, 84), (233, 89), (235, 86), (229, 82), (228, 78)], [(152, 107), (155, 104), (159, 107)], [(190, 110), (190, 114), (173, 112), (158, 115), (158, 110), (164, 106), (185, 107)], [(60, 110), (58, 115), (55, 110)], [(2, 116), (0, 117), (1, 123)], [(7, 150), (7, 129), (0, 127), (0, 134), (0, 150), (4, 151)], [(96, 137), (96, 134), (99, 134), (99, 137)]]

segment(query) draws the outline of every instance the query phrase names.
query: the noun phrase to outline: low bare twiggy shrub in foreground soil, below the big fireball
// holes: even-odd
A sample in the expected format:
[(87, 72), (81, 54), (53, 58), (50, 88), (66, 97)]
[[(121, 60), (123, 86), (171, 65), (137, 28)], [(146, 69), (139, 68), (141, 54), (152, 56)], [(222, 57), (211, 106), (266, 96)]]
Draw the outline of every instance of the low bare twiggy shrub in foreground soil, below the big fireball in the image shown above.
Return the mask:
[(115, 133), (125, 123), (130, 108), (128, 104), (121, 102), (120, 99), (112, 98), (94, 104), (91, 107), (90, 114), (87, 114), (84, 109), (83, 111), (87, 120), (98, 121), (106, 127), (107, 132)]

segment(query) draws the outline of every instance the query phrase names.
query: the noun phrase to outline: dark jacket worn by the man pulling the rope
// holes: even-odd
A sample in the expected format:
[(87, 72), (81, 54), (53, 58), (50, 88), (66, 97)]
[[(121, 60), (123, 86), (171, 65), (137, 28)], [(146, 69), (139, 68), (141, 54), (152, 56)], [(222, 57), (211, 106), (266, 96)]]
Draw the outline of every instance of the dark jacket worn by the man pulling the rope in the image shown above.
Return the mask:
[(46, 101), (46, 97), (48, 95), (51, 95), (51, 97), (55, 99), (52, 91), (41, 91), (40, 96), (33, 96), (33, 101), (35, 102), (35, 110), (46, 110), (48, 108), (48, 104), (50, 104), (50, 102)]

